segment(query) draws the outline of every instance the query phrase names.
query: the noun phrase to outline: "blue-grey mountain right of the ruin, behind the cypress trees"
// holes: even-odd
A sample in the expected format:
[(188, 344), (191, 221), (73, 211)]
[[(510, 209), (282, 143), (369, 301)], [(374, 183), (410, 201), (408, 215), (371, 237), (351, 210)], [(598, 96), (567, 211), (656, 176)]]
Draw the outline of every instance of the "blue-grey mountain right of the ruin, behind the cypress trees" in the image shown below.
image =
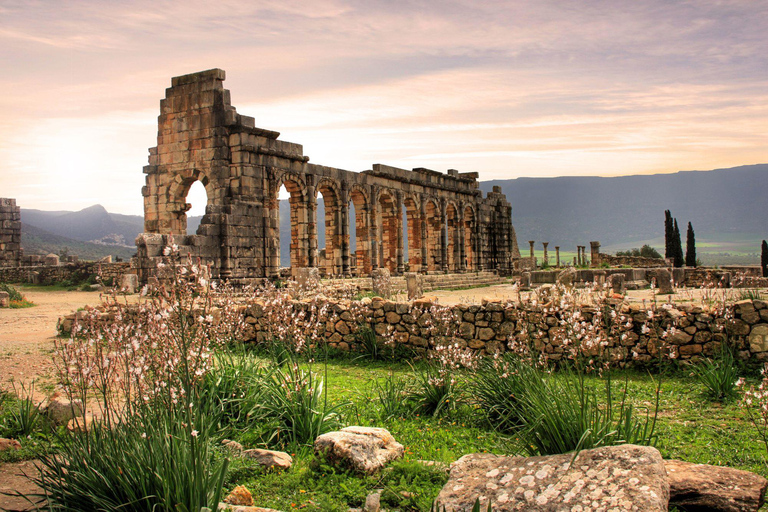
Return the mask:
[(663, 249), (667, 209), (683, 237), (684, 226), (693, 224), (699, 252), (745, 253), (753, 244), (757, 257), (760, 241), (768, 238), (768, 164), (612, 178), (516, 178), (485, 181), (480, 189), (495, 185), (512, 204), (523, 252), (528, 240), (537, 248), (549, 242), (570, 251), (592, 240), (614, 250), (648, 241)]

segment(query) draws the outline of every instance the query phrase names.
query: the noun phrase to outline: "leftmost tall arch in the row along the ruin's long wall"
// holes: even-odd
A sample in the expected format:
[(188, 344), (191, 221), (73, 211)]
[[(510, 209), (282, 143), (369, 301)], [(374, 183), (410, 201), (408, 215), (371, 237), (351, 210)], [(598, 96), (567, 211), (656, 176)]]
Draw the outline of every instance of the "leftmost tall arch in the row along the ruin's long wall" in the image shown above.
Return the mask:
[(272, 205), (270, 209), (273, 212), (273, 226), (276, 232), (273, 237), (277, 240), (277, 266), (280, 265), (280, 210), (279, 198), (280, 188), (285, 187), (290, 194), (288, 204), (290, 205), (290, 224), (291, 224), (291, 275), (296, 275), (298, 269), (310, 265), (310, 211), (308, 208), (307, 185), (301, 176), (295, 173), (283, 173), (275, 182), (275, 189), (272, 193)]

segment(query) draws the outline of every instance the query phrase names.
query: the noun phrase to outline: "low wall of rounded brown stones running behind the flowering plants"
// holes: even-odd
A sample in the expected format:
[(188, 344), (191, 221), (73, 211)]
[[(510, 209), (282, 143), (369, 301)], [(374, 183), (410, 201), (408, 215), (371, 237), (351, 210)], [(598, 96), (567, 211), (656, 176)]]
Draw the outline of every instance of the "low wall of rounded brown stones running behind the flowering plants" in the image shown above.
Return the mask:
[[(362, 315), (353, 315), (348, 302), (334, 303), (337, 321), (325, 324), (322, 333), (330, 347), (357, 350), (355, 330), (360, 317), (381, 336), (391, 336), (397, 343), (416, 351), (426, 351), (439, 342), (440, 335), (430, 320), (428, 301), (397, 303), (375, 298), (364, 300)], [(306, 302), (293, 303), (295, 308), (308, 308)], [(567, 357), (562, 313), (547, 306), (520, 306), (501, 302), (483, 305), (458, 305), (451, 308), (460, 319), (448, 332), (456, 333), (456, 341), (480, 354), (491, 355), (507, 350), (511, 340), (530, 339), (535, 348), (549, 360)], [(648, 363), (661, 354), (688, 360), (711, 356), (719, 343), (728, 340), (742, 359), (768, 361), (768, 304), (765, 301), (741, 301), (728, 309), (693, 306), (662, 306), (653, 309), (638, 304), (615, 306), (617, 316), (608, 340), (608, 351), (615, 362)], [(581, 308), (583, 321), (593, 320), (596, 310)], [(251, 326), (249, 339), (263, 341), (268, 337), (269, 322), (261, 304), (247, 309), (246, 322)], [(440, 331), (441, 333), (443, 331)], [(664, 334), (666, 332), (666, 334)]]

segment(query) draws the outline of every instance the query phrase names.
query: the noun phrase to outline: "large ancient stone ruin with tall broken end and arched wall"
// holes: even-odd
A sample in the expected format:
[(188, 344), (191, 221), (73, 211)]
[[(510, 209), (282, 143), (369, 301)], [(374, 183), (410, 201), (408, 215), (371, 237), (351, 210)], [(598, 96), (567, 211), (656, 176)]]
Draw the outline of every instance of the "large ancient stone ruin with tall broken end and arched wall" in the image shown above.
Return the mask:
[[(160, 102), (157, 146), (144, 168), (145, 233), (136, 239), (134, 265), (142, 282), (168, 235), (183, 253), (210, 264), (216, 278), (278, 276), (281, 186), (290, 194), (293, 275), (307, 267), (333, 276), (370, 275), (378, 268), (394, 275), (511, 274), (519, 251), (512, 208), (500, 188), (483, 197), (477, 173), (452, 169), (443, 174), (375, 164), (357, 173), (310, 164), (301, 145), (279, 140), (279, 133), (256, 128), (253, 118), (236, 112), (224, 77), (212, 69), (173, 78)], [(208, 204), (197, 234), (187, 236), (186, 197), (195, 181), (205, 186)], [(318, 194), (324, 219), (316, 218)], [(318, 247), (318, 221), (325, 223), (324, 248)]]

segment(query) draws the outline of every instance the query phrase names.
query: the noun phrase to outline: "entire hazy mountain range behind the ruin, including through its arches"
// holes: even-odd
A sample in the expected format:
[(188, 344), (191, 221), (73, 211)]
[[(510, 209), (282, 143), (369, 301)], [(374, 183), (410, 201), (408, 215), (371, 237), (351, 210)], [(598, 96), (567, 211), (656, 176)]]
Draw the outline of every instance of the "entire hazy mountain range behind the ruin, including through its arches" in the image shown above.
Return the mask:
[[(613, 178), (516, 178), (481, 182), (480, 189), (488, 192), (496, 185), (512, 204), (512, 222), (523, 253), (528, 240), (535, 240), (537, 249), (540, 242), (549, 242), (550, 248), (559, 245), (563, 251), (575, 251), (576, 245), (588, 246), (592, 240), (600, 241), (606, 252), (644, 243), (663, 250), (667, 209), (678, 219), (683, 236), (687, 223), (693, 223), (698, 253), (705, 263), (756, 264), (760, 241), (768, 238), (768, 164)], [(318, 198), (319, 219), (322, 211), (322, 198)], [(290, 264), (289, 218), (288, 201), (282, 200), (281, 264), (286, 266)], [(101, 205), (79, 212), (22, 209), (21, 219), (25, 226), (48, 235), (124, 244), (123, 249), (129, 250), (144, 229), (141, 216), (109, 213)], [(190, 233), (200, 220), (189, 217)], [(350, 222), (353, 237), (354, 226)], [(324, 231), (323, 223), (318, 223), (320, 239)], [(116, 250), (119, 245), (111, 247)]]

